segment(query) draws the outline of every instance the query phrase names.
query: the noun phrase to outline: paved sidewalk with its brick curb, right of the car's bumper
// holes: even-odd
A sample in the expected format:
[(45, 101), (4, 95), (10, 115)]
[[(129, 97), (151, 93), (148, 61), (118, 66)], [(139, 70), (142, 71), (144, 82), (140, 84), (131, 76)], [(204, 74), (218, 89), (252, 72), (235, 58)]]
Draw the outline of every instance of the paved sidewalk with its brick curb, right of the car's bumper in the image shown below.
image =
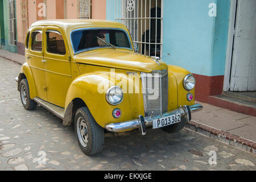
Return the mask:
[(256, 154), (256, 117), (200, 104), (204, 109), (192, 114), (188, 129)]

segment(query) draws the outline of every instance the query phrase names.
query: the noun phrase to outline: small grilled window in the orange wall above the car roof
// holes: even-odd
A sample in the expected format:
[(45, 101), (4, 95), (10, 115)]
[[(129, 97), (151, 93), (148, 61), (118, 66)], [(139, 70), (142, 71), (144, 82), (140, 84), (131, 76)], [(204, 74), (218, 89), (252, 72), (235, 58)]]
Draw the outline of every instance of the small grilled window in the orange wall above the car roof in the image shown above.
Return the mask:
[(92, 18), (92, 0), (78, 0), (78, 15), (80, 19)]

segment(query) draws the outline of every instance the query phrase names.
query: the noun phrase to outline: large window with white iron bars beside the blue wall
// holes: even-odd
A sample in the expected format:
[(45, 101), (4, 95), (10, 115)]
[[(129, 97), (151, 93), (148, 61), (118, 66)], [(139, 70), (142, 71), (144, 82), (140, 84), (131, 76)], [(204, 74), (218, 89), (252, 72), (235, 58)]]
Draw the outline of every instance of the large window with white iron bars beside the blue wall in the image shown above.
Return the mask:
[(115, 20), (125, 24), (139, 53), (162, 57), (164, 0), (115, 0)]

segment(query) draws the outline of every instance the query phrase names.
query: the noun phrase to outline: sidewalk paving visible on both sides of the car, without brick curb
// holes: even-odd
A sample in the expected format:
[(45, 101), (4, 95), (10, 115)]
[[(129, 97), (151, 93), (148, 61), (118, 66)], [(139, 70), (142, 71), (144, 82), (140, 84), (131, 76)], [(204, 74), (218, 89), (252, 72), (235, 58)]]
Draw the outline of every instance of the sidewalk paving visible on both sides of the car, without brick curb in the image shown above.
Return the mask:
[[(0, 57), (14, 61), (20, 65), (24, 63), (25, 57), (17, 53), (11, 53), (0, 49)], [(233, 134), (250, 142), (256, 142), (256, 117), (236, 113), (221, 107), (201, 103), (204, 106), (203, 111), (192, 115), (191, 125), (203, 125)], [(248, 142), (247, 142), (248, 143)], [(255, 146), (256, 147), (256, 146)]]

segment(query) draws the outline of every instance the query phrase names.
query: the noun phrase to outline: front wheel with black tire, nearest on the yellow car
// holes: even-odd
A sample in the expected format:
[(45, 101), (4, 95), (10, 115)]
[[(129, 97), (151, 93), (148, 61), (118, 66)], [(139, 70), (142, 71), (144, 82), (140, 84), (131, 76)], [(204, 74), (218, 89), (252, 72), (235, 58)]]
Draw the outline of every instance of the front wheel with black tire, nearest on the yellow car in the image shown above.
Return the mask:
[(84, 154), (94, 155), (102, 152), (104, 129), (95, 121), (88, 107), (81, 107), (76, 111), (74, 127), (77, 142)]

